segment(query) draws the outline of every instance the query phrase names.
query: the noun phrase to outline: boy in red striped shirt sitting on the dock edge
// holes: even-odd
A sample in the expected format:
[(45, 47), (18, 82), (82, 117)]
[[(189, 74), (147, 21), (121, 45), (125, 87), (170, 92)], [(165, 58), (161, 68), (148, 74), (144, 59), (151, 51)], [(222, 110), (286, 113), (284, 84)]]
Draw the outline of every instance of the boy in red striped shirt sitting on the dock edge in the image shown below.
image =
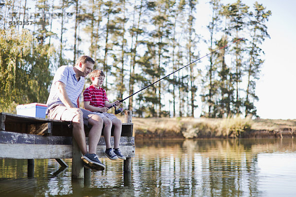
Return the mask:
[[(102, 70), (93, 70), (90, 73), (90, 80), (92, 85), (85, 89), (83, 92), (84, 108), (96, 112), (104, 122), (104, 137), (106, 142), (105, 154), (111, 160), (117, 160), (118, 158), (125, 160), (126, 158), (122, 155), (119, 149), (119, 140), (121, 135), (121, 121), (116, 118), (115, 115), (107, 113), (112, 104), (119, 106), (121, 102), (116, 100), (113, 103), (109, 103), (106, 91), (102, 88), (105, 80), (105, 74)], [(114, 148), (111, 148), (111, 128), (114, 125)]]

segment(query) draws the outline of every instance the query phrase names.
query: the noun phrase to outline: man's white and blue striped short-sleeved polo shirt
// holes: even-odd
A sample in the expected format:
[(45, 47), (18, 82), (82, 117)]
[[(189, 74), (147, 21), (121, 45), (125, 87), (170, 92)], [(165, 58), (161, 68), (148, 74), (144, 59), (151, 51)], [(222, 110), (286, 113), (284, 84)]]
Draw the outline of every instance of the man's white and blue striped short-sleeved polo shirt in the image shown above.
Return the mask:
[(85, 78), (80, 77), (79, 81), (77, 81), (75, 75), (76, 73), (73, 66), (61, 66), (57, 69), (51, 84), (49, 97), (46, 102), (46, 114), (48, 114), (48, 110), (53, 106), (63, 104), (59, 98), (58, 87), (55, 85), (57, 81), (61, 81), (66, 84), (66, 93), (74, 106), (77, 107), (77, 99), (83, 90)]

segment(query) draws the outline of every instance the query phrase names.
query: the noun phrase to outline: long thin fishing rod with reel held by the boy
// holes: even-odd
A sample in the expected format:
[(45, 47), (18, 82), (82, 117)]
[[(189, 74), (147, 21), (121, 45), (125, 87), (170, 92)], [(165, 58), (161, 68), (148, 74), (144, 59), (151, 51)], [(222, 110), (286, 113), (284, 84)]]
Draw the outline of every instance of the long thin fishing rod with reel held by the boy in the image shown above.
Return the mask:
[[(237, 39), (237, 40), (231, 42), (230, 44), (233, 44), (233, 43), (235, 43), (235, 42), (238, 42), (238, 41), (240, 41), (241, 39), (243, 39), (243, 38)], [(230, 45), (230, 44), (229, 44), (229, 45)], [(168, 74), (168, 75), (162, 77), (161, 79), (158, 79), (157, 81), (154, 81), (153, 83), (151, 83), (151, 84), (149, 84), (148, 86), (142, 88), (141, 90), (135, 92), (134, 94), (132, 94), (132, 95), (130, 95), (130, 96), (124, 98), (124, 99), (119, 100), (119, 102), (123, 102), (125, 99), (128, 99), (128, 98), (134, 96), (135, 94), (137, 94), (137, 93), (139, 93), (139, 92), (145, 90), (146, 88), (148, 88), (148, 87), (154, 85), (155, 83), (157, 83), (157, 82), (159, 82), (160, 80), (162, 80), (162, 79), (164, 79), (164, 78), (170, 76), (171, 74), (174, 74), (175, 72), (178, 72), (179, 70), (185, 68), (186, 66), (189, 66), (189, 65), (191, 65), (191, 64), (193, 64), (193, 63), (199, 61), (200, 59), (202, 59), (202, 58), (204, 58), (204, 57), (207, 57), (208, 55), (211, 55), (212, 53), (215, 53), (215, 52), (217, 52), (217, 51), (219, 51), (219, 50), (221, 50), (222, 48), (225, 48), (225, 47), (227, 47), (227, 46), (228, 46), (228, 44), (226, 44), (225, 46), (223, 46), (223, 47), (221, 47), (221, 48), (219, 48), (219, 49), (216, 49), (215, 51), (212, 51), (211, 53), (208, 53), (208, 54), (204, 55), (203, 57), (201, 57), (201, 58), (199, 58), (199, 59), (197, 59), (197, 60), (194, 60), (193, 62), (191, 62), (191, 63), (189, 63), (189, 64), (187, 64), (187, 65), (185, 65), (185, 66), (183, 66), (183, 67), (181, 67), (181, 68), (179, 68), (179, 69), (177, 69), (177, 70), (175, 70), (174, 72), (172, 72), (172, 73), (170, 73), (170, 74)], [(118, 109), (116, 109), (115, 104), (112, 104), (112, 105), (109, 107), (109, 109), (111, 109), (112, 107), (115, 107), (115, 112), (114, 112), (115, 114), (119, 114), (119, 113), (121, 113), (121, 112), (123, 111), (123, 109), (122, 109), (121, 107), (118, 108)]]

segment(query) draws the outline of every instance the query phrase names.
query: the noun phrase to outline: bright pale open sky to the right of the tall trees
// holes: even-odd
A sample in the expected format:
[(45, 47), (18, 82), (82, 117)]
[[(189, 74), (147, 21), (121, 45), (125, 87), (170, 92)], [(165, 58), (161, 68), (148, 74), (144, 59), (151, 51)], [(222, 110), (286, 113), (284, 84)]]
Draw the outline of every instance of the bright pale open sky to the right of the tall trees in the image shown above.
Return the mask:
[[(211, 14), (207, 1), (199, 1), (197, 11), (201, 16), (205, 16), (205, 12)], [(222, 3), (235, 1), (222, 0)], [(265, 62), (256, 85), (257, 115), (263, 119), (296, 119), (296, 0), (257, 1), (272, 13), (267, 22), (270, 39), (266, 38), (261, 45)], [(242, 2), (253, 7), (256, 0)], [(203, 19), (199, 22), (208, 23)]]

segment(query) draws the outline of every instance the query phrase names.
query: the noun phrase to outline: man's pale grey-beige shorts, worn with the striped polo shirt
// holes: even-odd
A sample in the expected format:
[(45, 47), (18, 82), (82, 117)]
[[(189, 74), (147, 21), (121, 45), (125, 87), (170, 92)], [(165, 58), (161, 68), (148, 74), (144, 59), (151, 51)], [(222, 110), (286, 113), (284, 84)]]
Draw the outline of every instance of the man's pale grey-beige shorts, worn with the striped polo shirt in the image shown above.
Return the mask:
[[(80, 110), (83, 113), (83, 124), (88, 126), (88, 119), (92, 117), (95, 113), (82, 108), (80, 108)], [(54, 120), (73, 121), (73, 118), (75, 116), (76, 114), (70, 111), (63, 104), (52, 107), (48, 112), (48, 118)]]

